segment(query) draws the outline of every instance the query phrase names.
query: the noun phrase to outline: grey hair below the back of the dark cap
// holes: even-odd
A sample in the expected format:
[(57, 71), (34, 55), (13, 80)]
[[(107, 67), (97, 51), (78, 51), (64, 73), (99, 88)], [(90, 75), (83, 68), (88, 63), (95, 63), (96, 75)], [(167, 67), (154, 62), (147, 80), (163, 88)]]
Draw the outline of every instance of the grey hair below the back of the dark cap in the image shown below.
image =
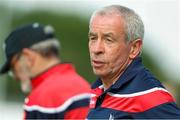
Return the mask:
[(40, 53), (44, 57), (58, 57), (60, 43), (57, 39), (53, 38), (34, 44), (30, 49)]

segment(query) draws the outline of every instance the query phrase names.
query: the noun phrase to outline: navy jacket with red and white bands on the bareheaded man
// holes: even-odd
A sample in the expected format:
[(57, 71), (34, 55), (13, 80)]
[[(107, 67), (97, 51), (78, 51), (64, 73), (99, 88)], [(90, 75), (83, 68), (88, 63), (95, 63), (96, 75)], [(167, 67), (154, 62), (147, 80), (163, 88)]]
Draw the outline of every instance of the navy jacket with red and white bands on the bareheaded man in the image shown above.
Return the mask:
[(92, 85), (88, 119), (180, 119), (171, 94), (136, 58), (106, 91), (98, 79)]

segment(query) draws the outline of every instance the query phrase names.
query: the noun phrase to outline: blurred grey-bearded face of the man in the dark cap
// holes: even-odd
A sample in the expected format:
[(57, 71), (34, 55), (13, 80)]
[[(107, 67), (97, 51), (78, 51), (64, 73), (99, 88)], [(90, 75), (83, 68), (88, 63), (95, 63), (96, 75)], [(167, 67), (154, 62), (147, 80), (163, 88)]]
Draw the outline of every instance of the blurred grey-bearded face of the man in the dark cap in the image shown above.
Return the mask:
[(31, 90), (31, 75), (30, 69), (27, 65), (27, 59), (21, 54), (20, 56), (14, 56), (11, 61), (11, 70), (13, 77), (16, 80), (20, 80), (21, 90), (24, 93), (28, 93)]

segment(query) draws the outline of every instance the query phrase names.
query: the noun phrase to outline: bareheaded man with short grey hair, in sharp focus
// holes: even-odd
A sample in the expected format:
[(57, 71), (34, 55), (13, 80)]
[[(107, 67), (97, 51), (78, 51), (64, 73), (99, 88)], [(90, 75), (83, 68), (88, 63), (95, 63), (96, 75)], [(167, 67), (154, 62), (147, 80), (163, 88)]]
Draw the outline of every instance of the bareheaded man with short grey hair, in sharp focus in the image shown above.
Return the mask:
[(94, 12), (89, 25), (94, 73), (89, 119), (180, 119), (170, 93), (143, 66), (140, 57), (144, 25), (120, 5)]

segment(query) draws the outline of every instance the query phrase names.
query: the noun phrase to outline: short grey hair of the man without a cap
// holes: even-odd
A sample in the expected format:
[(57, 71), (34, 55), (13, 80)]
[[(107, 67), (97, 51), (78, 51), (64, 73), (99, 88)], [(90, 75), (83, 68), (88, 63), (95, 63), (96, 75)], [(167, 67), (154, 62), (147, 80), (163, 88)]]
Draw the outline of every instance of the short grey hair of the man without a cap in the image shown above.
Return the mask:
[(97, 10), (93, 13), (90, 23), (95, 15), (107, 15), (107, 14), (117, 14), (124, 19), (125, 23), (125, 35), (127, 41), (132, 41), (136, 39), (144, 38), (144, 24), (139, 17), (132, 9), (121, 5), (110, 5), (104, 7), (100, 10)]

